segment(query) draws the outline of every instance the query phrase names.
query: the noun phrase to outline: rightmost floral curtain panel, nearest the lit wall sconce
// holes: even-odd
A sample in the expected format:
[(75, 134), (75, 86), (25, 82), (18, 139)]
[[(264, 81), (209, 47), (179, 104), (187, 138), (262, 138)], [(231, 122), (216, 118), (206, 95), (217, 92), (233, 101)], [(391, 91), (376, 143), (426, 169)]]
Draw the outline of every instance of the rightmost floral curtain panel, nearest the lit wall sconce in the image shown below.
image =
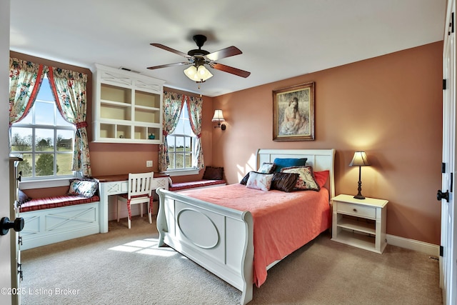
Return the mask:
[(201, 97), (186, 96), (187, 109), (189, 110), (189, 121), (191, 121), (191, 128), (194, 134), (198, 137), (196, 142), (196, 151), (193, 158), (194, 164), (197, 169), (204, 169), (203, 149), (201, 148), (201, 116), (203, 113), (203, 99)]

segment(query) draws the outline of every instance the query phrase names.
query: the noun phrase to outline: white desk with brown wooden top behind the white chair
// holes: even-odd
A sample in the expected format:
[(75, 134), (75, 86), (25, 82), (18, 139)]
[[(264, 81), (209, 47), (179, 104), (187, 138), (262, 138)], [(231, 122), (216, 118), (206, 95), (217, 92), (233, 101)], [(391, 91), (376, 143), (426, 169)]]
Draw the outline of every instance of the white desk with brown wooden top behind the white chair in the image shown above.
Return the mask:
[[(126, 194), (128, 189), (129, 174), (98, 176), (94, 177), (99, 181), (100, 193), (100, 232), (108, 232), (108, 196)], [(169, 189), (169, 176), (166, 174), (154, 173), (152, 189), (163, 187)]]

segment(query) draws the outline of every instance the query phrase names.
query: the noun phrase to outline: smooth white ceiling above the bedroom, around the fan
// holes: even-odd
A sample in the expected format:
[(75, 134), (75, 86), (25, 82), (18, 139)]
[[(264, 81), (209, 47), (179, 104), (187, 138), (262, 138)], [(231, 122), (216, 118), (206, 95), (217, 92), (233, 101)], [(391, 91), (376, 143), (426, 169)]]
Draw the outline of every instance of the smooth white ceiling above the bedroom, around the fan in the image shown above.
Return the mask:
[[(175, 89), (219, 96), (281, 79), (443, 40), (446, 0), (12, 0), (11, 51), (93, 69), (124, 67)], [(209, 52), (236, 46), (201, 85), (186, 61), (194, 34)]]

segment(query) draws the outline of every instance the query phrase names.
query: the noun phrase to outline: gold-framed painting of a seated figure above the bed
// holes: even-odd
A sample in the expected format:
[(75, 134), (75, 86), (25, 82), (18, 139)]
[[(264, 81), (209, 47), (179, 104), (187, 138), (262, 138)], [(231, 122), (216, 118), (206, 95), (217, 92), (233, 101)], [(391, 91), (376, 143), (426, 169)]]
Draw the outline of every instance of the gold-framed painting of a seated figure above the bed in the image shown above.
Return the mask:
[(314, 82), (273, 91), (273, 141), (314, 140)]

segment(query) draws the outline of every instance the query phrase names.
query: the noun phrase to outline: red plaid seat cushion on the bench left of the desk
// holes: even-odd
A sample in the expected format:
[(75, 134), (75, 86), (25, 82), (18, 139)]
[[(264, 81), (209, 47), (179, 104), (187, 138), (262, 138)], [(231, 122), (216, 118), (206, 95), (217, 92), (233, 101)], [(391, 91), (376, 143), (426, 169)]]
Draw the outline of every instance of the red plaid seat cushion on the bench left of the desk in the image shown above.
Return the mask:
[(90, 202), (100, 201), (99, 196), (87, 198), (84, 196), (54, 196), (39, 199), (31, 199), (21, 204), (20, 212), (38, 211), (43, 209), (59, 208), (61, 206), (74, 206), (75, 204), (89, 204)]

